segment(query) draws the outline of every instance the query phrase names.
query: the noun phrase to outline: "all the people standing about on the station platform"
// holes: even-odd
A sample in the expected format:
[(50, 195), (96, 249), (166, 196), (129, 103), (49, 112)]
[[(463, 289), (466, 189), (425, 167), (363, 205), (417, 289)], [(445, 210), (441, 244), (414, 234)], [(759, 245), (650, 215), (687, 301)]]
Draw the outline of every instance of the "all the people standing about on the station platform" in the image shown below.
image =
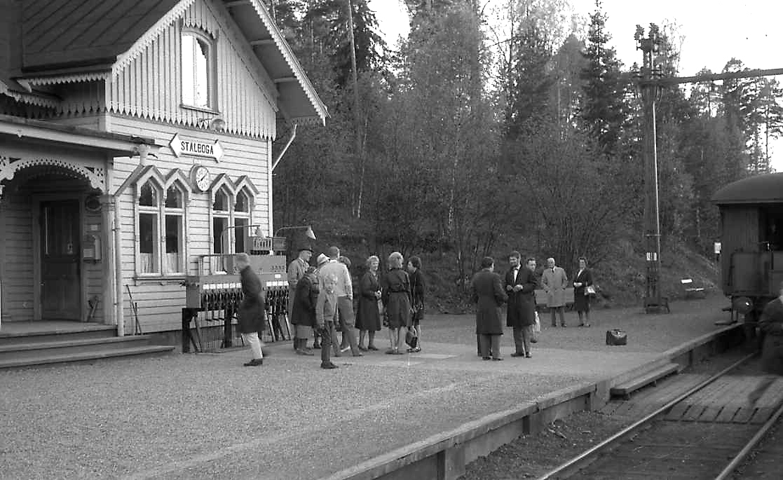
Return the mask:
[[(421, 321), (424, 318), (424, 276), (421, 260), (410, 257), (403, 263), (402, 254), (394, 252), (388, 257), (388, 269), (379, 272), (381, 260), (375, 255), (366, 259), (359, 281), (352, 280), (348, 267), (351, 262), (340, 255), (340, 249), (329, 247), (327, 254), (319, 254), (316, 266), (310, 265), (312, 249), (301, 247), (298, 257), (288, 265), (290, 323), (294, 328), (294, 350), (300, 355), (314, 355), (312, 349), (320, 348), (321, 368), (337, 368), (331, 356), (341, 356), (348, 350), (354, 356), (362, 352), (377, 351), (376, 332), (388, 327), (389, 348), (386, 353), (402, 355), (421, 351)], [(476, 303), (476, 335), (478, 353), (485, 360), (502, 360), (500, 335), (503, 334), (501, 307), (507, 305), (506, 327), (514, 334), (512, 357), (532, 357), (532, 343), (536, 342), (533, 325), (536, 322), (536, 295), (539, 281), (536, 276), (536, 259), (527, 258), (523, 264), (521, 254), (513, 251), (508, 262), (511, 268), (501, 278), (494, 272), (494, 260), (482, 259), (482, 270), (471, 281), (471, 291)], [(249, 267), (247, 254), (238, 254), (244, 300), (238, 312), (240, 333), (250, 345), (253, 359), (246, 366), (262, 365), (263, 352), (258, 331), (264, 329), (264, 302), (261, 282)], [(403, 265), (405, 267), (403, 268)], [(540, 285), (547, 294), (547, 307), (551, 312), (552, 326), (565, 327), (565, 289), (568, 276), (558, 267), (554, 258), (547, 258)], [(579, 269), (572, 281), (574, 309), (579, 315), (579, 326), (590, 327), (589, 293), (593, 277), (585, 258), (579, 258)], [(354, 334), (359, 330), (359, 338)], [(405, 329), (405, 330), (403, 330)], [(337, 330), (342, 339), (337, 343)], [(405, 335), (403, 335), (405, 331)], [(313, 338), (312, 348), (308, 347)], [(366, 341), (366, 343), (365, 343)]]

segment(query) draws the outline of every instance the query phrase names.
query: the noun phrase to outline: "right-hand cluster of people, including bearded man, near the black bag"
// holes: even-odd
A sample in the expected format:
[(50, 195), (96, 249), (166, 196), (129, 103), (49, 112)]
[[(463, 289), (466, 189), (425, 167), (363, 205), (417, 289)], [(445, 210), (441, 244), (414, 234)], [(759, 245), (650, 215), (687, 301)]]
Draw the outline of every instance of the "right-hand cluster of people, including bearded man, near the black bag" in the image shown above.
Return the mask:
[[(485, 360), (502, 360), (500, 356), (500, 335), (503, 334), (501, 308), (507, 305), (506, 327), (514, 334), (512, 357), (532, 357), (532, 343), (536, 341), (533, 325), (536, 323), (536, 259), (527, 258), (521, 264), (521, 254), (512, 251), (508, 257), (511, 268), (501, 278), (494, 271), (492, 257), (482, 259), (482, 269), (471, 280), (471, 292), (476, 304), (476, 335), (478, 355)], [(555, 264), (554, 258), (547, 258), (547, 268), (541, 275), (541, 286), (547, 294), (547, 307), (552, 316), (552, 327), (565, 327), (565, 289), (568, 276), (565, 270)], [(579, 316), (580, 327), (590, 327), (590, 287), (593, 276), (587, 269), (586, 258), (579, 258), (579, 271), (572, 282), (574, 287), (574, 309)]]

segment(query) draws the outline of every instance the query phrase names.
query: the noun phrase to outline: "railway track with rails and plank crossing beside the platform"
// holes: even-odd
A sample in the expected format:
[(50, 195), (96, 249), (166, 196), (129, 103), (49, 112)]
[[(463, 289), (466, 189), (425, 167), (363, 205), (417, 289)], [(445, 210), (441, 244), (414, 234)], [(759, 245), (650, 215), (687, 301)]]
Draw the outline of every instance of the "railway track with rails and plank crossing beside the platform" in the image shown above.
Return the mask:
[(539, 480), (732, 478), (767, 431), (783, 421), (783, 381), (749, 406), (746, 395), (760, 377), (729, 375), (753, 356), (700, 381)]

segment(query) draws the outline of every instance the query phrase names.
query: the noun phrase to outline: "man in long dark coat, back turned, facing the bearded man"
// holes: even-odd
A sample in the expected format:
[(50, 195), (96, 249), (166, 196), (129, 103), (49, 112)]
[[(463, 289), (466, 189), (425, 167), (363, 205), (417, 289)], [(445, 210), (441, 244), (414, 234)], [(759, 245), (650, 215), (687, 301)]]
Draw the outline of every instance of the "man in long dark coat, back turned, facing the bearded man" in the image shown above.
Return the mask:
[[(476, 334), (482, 359), (489, 360), (492, 352), (493, 360), (500, 358), (500, 335), (503, 334), (503, 322), (500, 315), (500, 305), (508, 300), (503, 291), (500, 275), (493, 272), (495, 261), (492, 257), (482, 258), (482, 270), (471, 280), (473, 301), (476, 305)], [(491, 346), (490, 346), (491, 345)]]

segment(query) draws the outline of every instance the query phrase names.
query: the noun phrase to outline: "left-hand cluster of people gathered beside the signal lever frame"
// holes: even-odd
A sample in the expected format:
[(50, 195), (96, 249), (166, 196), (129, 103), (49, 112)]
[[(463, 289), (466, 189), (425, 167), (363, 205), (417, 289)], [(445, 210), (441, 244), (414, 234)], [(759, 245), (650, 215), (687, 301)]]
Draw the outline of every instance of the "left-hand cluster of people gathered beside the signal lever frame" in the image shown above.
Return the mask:
[[(403, 269), (402, 254), (394, 252), (388, 257), (388, 269), (381, 274), (381, 260), (372, 255), (366, 259), (356, 288), (348, 270), (351, 262), (340, 255), (339, 248), (329, 247), (327, 254), (319, 254), (315, 267), (309, 264), (311, 258), (310, 247), (301, 247), (298, 258), (288, 267), (288, 311), (298, 354), (314, 355), (307, 346), (312, 336), (312, 348), (321, 350), (321, 368), (337, 368), (331, 355), (340, 356), (348, 349), (354, 356), (377, 351), (375, 334), (384, 323), (389, 332), (387, 353), (402, 354), (403, 328), (408, 352), (421, 351), (424, 276), (420, 258), (409, 258)], [(358, 341), (354, 329), (359, 330)], [(337, 330), (342, 332), (340, 345)]]

